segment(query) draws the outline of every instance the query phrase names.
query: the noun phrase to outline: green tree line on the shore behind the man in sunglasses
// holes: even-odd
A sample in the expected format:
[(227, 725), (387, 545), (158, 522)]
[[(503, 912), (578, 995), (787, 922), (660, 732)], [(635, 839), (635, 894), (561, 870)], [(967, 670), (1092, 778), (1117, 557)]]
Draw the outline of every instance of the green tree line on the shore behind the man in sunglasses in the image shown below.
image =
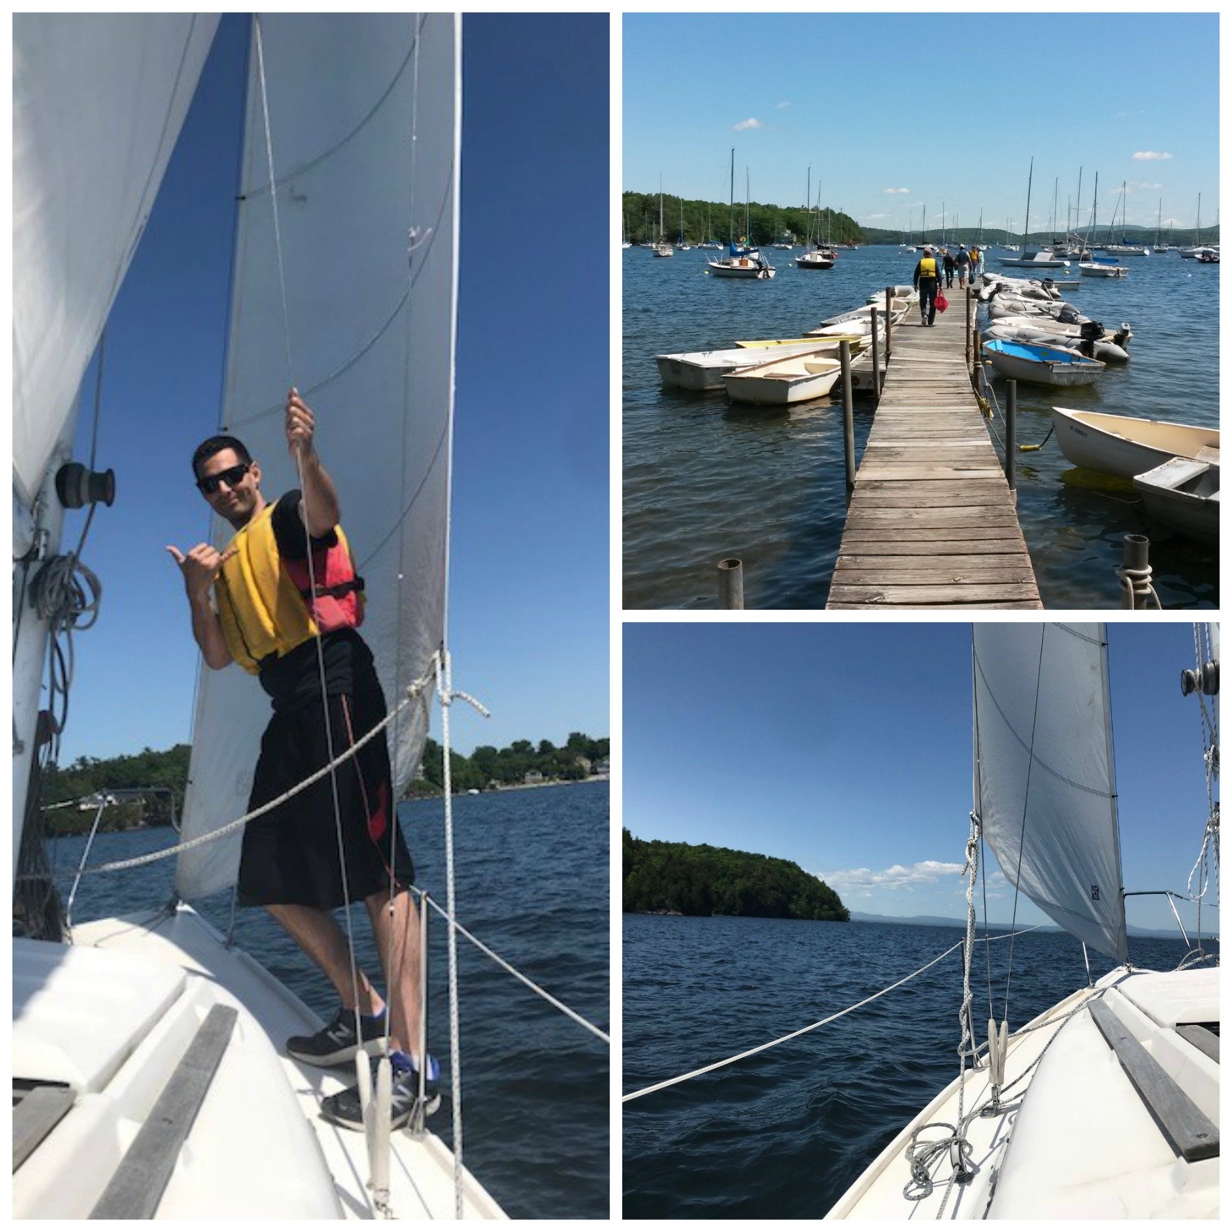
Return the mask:
[[(175, 818), (184, 809), (184, 793), (188, 782), (188, 758), (191, 745), (176, 744), (155, 752), (143, 749), (138, 754), (118, 758), (81, 756), (68, 766), (54, 763), (43, 771), (39, 785), (39, 803), (48, 833), (85, 833), (94, 824), (97, 804), (79, 809), (73, 801), (101, 800), (108, 792), (134, 791), (137, 788), (163, 788), (148, 791), (138, 798), (118, 798), (108, 803), (101, 830), (124, 830), (144, 825), (170, 825), (172, 809)], [(513, 786), (525, 782), (526, 776), (537, 772), (545, 782), (570, 782), (589, 777), (610, 753), (607, 737), (594, 739), (584, 732), (570, 732), (559, 748), (551, 740), (514, 740), (506, 748), (490, 744), (479, 745), (469, 756), (451, 754), (450, 769), (453, 792), (487, 791), (490, 787)], [(441, 745), (429, 739), (419, 774), (407, 790), (407, 798), (439, 796), (445, 784), (445, 756)], [(65, 807), (55, 807), (64, 804)]]

